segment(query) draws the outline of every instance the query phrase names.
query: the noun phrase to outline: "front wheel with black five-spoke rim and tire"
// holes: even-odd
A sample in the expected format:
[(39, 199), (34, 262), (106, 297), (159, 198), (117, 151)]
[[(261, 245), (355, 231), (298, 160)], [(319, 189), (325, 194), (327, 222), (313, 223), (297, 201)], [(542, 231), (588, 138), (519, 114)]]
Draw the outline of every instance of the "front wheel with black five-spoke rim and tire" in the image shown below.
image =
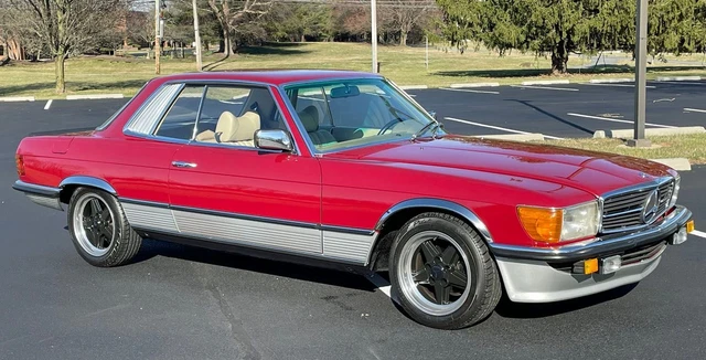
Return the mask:
[(389, 275), (407, 315), (438, 329), (482, 321), (502, 296), (498, 266), (481, 236), (445, 213), (419, 214), (400, 229), (391, 250)]

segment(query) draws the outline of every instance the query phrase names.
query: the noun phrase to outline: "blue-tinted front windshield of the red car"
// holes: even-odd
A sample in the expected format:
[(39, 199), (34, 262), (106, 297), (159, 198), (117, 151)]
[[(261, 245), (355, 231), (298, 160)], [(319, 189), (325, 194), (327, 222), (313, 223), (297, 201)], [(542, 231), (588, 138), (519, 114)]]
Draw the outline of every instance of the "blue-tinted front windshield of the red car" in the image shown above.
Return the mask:
[(304, 136), (320, 152), (441, 134), (427, 126), (434, 119), (424, 109), (382, 78), (298, 84), (286, 91)]

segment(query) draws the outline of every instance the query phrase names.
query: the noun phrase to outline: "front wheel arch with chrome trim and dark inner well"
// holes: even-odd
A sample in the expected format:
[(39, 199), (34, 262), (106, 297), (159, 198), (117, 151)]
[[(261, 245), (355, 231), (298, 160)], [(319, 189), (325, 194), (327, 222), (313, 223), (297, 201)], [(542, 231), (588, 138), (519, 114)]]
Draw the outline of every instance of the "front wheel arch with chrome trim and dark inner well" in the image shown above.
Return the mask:
[(486, 244), (493, 242), (493, 237), (483, 221), (470, 209), (442, 199), (418, 198), (405, 200), (387, 210), (377, 221), (375, 231), (377, 237), (371, 247), (367, 266), (372, 271), (386, 269), (392, 245), (391, 232), (399, 230), (409, 219), (428, 211), (437, 211), (457, 216), (473, 226)]

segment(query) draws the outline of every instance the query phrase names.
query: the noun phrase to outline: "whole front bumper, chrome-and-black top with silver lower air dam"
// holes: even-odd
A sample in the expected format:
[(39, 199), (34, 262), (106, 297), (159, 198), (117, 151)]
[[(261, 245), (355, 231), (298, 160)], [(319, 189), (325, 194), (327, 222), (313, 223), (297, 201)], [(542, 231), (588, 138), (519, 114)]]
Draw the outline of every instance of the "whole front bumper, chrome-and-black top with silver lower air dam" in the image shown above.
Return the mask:
[[(601, 293), (638, 283), (660, 264), (672, 236), (692, 219), (681, 205), (660, 223), (628, 234), (554, 248), (491, 243), (507, 297), (517, 303), (550, 303)], [(589, 258), (620, 255), (623, 265), (613, 273), (577, 274), (570, 265)], [(637, 256), (637, 260), (635, 260)], [(631, 261), (627, 261), (631, 258)]]

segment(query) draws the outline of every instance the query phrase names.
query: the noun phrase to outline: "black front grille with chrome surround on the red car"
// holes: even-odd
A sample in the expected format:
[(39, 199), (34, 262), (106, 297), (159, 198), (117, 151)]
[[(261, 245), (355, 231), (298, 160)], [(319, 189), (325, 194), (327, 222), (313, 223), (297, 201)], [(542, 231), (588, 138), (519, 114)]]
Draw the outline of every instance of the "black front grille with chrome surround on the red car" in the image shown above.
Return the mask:
[[(668, 209), (675, 178), (663, 177), (638, 186), (619, 189), (600, 197), (601, 224), (599, 233), (612, 234), (643, 229), (660, 219)], [(656, 191), (655, 213), (643, 221), (649, 197)], [(648, 211), (650, 212), (650, 211)]]

